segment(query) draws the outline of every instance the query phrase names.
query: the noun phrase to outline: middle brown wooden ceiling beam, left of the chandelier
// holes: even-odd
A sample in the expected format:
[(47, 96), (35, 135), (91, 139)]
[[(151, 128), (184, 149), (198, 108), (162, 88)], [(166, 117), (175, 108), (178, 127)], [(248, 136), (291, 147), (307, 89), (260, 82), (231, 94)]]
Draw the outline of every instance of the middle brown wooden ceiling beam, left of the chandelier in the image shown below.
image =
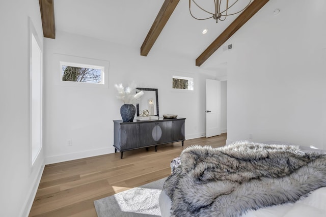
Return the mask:
[(179, 0), (165, 0), (161, 9), (159, 10), (152, 27), (150, 28), (141, 47), (141, 55), (147, 56), (151, 48), (153, 47), (156, 39), (168, 22), (172, 12), (177, 7)]

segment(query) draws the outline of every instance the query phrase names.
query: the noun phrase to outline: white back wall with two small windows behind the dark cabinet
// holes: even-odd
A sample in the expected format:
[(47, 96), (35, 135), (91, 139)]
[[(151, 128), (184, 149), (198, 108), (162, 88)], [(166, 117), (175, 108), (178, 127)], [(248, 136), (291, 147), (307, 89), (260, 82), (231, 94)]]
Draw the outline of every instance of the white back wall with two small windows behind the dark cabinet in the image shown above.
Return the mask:
[[(117, 83), (158, 88), (160, 116), (185, 117), (186, 139), (204, 135), (205, 79), (215, 79), (216, 73), (196, 67), (195, 59), (154, 51), (144, 57), (139, 47), (58, 31), (56, 40), (44, 44), (46, 163), (114, 152), (113, 120), (121, 119), (123, 104), (116, 99)], [(58, 85), (56, 54), (109, 61), (108, 88)], [(173, 90), (172, 75), (194, 77), (195, 91)]]

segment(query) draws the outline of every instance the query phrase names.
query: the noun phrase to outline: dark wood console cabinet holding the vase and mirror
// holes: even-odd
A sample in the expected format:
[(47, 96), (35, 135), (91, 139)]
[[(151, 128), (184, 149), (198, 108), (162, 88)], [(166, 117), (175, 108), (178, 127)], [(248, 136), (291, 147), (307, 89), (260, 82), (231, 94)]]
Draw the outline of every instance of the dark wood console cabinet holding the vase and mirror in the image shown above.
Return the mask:
[(138, 148), (147, 148), (171, 142), (181, 141), (183, 146), (185, 118), (159, 118), (158, 120), (137, 120), (123, 122), (114, 120), (115, 152), (123, 152)]

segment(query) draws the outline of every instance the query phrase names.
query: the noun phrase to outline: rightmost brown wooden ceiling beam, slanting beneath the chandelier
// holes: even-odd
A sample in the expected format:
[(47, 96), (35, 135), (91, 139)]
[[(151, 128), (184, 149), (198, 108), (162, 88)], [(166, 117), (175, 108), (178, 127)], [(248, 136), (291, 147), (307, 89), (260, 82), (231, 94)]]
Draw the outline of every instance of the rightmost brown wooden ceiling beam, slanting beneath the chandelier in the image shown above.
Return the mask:
[(201, 66), (219, 49), (244, 23), (254, 16), (269, 0), (255, 0), (246, 8), (196, 59), (196, 66)]

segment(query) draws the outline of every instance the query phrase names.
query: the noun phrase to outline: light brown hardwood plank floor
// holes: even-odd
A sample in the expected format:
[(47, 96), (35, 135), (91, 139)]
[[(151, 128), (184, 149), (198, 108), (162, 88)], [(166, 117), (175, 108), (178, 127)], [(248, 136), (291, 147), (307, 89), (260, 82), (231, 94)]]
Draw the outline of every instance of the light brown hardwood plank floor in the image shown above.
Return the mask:
[(97, 216), (94, 200), (171, 174), (170, 162), (191, 145), (223, 146), (226, 133), (46, 165), (29, 216)]

